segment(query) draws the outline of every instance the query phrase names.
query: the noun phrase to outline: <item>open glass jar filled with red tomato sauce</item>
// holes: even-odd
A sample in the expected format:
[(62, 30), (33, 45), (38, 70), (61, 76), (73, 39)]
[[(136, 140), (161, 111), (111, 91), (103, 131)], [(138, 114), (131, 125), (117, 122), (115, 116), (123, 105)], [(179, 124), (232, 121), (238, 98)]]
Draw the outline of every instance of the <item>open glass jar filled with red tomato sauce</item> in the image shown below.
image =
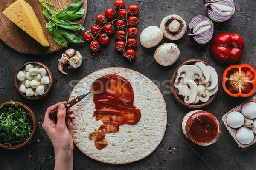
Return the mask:
[(221, 125), (212, 113), (195, 110), (184, 116), (182, 130), (193, 143), (208, 146), (218, 140), (221, 134)]

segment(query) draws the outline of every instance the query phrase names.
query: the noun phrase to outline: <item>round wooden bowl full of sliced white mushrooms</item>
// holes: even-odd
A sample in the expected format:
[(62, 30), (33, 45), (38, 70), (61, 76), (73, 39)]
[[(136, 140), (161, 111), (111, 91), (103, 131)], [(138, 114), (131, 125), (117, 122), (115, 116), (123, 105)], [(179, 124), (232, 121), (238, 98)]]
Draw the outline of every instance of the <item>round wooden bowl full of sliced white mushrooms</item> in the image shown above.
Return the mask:
[(182, 62), (172, 73), (172, 95), (181, 105), (202, 108), (218, 93), (219, 81), (215, 69), (200, 59)]

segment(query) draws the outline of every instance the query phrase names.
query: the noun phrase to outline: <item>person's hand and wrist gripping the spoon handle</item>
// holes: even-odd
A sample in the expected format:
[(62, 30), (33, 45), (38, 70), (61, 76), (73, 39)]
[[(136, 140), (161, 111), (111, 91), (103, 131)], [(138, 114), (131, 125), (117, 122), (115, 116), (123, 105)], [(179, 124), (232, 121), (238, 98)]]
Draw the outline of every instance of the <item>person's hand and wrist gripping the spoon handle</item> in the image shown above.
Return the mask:
[[(55, 170), (70, 170), (73, 169), (73, 139), (67, 128), (72, 126), (72, 119), (75, 116), (72, 114), (73, 110), (68, 109), (66, 111), (66, 102), (59, 102), (51, 107), (47, 108), (44, 116), (44, 122), (42, 127), (46, 131), (47, 135), (51, 139), (55, 152)], [(49, 118), (49, 113), (56, 110), (57, 122)], [(66, 115), (67, 113), (67, 115)]]

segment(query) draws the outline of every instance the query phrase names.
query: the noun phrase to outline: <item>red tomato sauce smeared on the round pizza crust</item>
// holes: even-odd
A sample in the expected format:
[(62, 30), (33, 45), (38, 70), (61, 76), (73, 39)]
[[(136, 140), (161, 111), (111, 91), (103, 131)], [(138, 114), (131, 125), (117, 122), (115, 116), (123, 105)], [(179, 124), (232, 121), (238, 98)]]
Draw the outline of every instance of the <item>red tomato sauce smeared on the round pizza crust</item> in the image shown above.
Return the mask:
[(140, 121), (141, 113), (134, 106), (134, 91), (131, 83), (122, 76), (108, 74), (103, 77), (111, 78), (111, 85), (102, 94), (94, 94), (93, 102), (96, 111), (93, 117), (97, 121), (102, 120), (102, 125), (90, 133), (89, 140), (94, 140), (97, 149), (103, 149), (108, 145), (105, 139), (107, 133), (116, 133), (119, 126), (125, 123), (136, 124)]

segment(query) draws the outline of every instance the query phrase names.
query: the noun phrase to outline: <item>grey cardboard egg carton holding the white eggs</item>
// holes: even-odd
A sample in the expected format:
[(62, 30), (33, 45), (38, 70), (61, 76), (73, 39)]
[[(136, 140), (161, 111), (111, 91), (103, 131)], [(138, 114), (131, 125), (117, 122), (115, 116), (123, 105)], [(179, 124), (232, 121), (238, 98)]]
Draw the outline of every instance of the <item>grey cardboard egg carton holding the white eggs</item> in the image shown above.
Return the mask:
[[(244, 105), (244, 103), (246, 102), (256, 102), (256, 96), (253, 96), (252, 98), (248, 99), (247, 101), (241, 103), (240, 105), (236, 106), (236, 108), (233, 108), (232, 110), (230, 110), (229, 112), (227, 112), (226, 114), (224, 114), (224, 116), (222, 117), (222, 121), (224, 122), (225, 126), (227, 127), (227, 130), (230, 132), (231, 136), (233, 136), (234, 140), (236, 141), (236, 143), (239, 145), (239, 147), (244, 148), (244, 147), (248, 147), (252, 144), (254, 144), (256, 142), (256, 134), (254, 134), (254, 139), (253, 142), (251, 142), (250, 144), (241, 144), (240, 142), (238, 142), (238, 140), (236, 139), (236, 129), (231, 128), (227, 125), (226, 122), (226, 118), (228, 113), (233, 112), (233, 111), (238, 111), (241, 113), (242, 110), (242, 106)], [(244, 118), (244, 125), (242, 125), (242, 127), (253, 127), (253, 119), (247, 119)]]

